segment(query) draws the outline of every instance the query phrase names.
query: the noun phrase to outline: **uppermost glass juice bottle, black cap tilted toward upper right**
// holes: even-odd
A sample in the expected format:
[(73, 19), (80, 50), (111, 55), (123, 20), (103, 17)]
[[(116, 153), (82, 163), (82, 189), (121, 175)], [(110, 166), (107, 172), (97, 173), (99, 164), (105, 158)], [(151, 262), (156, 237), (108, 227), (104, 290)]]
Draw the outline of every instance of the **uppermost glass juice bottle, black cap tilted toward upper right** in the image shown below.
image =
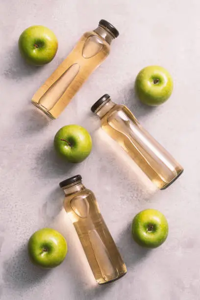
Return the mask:
[(118, 30), (105, 20), (78, 41), (74, 50), (50, 75), (32, 98), (32, 103), (51, 119), (56, 119), (81, 85), (103, 62)]

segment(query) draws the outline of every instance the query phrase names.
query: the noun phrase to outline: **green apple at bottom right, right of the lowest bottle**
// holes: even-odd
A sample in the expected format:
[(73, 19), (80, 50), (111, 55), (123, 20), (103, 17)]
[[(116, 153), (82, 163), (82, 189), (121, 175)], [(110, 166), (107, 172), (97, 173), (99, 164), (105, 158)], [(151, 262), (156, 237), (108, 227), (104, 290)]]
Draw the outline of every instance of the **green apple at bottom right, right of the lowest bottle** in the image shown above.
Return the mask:
[(156, 248), (163, 244), (168, 236), (167, 219), (158, 210), (143, 210), (133, 219), (132, 236), (140, 246)]

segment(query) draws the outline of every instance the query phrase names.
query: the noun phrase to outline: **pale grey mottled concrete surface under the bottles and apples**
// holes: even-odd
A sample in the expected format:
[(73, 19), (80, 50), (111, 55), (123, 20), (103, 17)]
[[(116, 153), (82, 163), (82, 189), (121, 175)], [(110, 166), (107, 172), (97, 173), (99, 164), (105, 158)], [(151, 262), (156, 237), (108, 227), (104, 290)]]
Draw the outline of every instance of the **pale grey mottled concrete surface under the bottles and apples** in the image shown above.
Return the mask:
[[(1, 0), (0, 13), (0, 299), (200, 299), (200, 1)], [(60, 118), (47, 122), (32, 95), (101, 18), (120, 31), (110, 56)], [(54, 60), (40, 68), (27, 66), (17, 46), (35, 24), (50, 27), (59, 41)], [(167, 68), (175, 82), (170, 100), (155, 109), (142, 106), (133, 89), (137, 73), (152, 64)], [(98, 130), (90, 107), (104, 93), (125, 103), (183, 165), (167, 190), (146, 184)], [(80, 165), (61, 162), (52, 148), (55, 133), (68, 124), (84, 125), (93, 137), (92, 153)], [(127, 275), (107, 286), (96, 285), (62, 210), (58, 183), (75, 174), (96, 194), (127, 265)], [(169, 221), (169, 237), (156, 250), (131, 239), (132, 218), (145, 208)], [(58, 229), (69, 246), (52, 271), (27, 258), (28, 238), (44, 226)]]

